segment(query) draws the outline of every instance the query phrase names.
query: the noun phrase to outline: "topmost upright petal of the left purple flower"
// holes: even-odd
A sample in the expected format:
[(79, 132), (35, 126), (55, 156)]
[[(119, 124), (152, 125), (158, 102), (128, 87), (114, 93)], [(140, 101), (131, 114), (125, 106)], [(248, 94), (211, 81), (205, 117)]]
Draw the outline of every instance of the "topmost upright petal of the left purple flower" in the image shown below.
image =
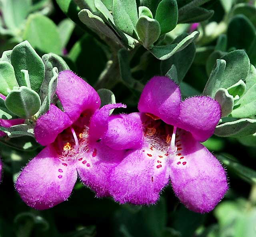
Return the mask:
[(72, 122), (75, 122), (83, 111), (95, 111), (100, 107), (98, 93), (69, 70), (60, 72), (56, 93)]

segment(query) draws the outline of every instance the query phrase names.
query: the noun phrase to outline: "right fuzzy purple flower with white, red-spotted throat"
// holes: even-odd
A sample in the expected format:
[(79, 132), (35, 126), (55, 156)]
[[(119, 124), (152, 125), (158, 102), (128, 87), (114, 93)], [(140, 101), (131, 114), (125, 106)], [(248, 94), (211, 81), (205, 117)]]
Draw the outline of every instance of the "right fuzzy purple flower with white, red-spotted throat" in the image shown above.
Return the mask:
[[(120, 115), (143, 127), (142, 145), (128, 150), (110, 176), (110, 193), (120, 203), (156, 203), (169, 179), (176, 196), (188, 209), (211, 211), (228, 189), (218, 160), (200, 143), (213, 133), (221, 115), (210, 97), (181, 101), (180, 89), (168, 77), (153, 77), (142, 91), (140, 113)], [(120, 121), (109, 128), (122, 134)], [(136, 130), (126, 134), (135, 136)]]

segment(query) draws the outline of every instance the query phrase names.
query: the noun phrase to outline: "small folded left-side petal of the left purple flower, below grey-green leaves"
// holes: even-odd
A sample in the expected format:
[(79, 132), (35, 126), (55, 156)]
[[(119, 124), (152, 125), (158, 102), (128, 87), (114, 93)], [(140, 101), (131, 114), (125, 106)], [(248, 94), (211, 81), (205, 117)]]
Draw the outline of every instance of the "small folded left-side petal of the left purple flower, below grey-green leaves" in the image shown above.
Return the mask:
[(34, 129), (36, 140), (41, 145), (47, 146), (54, 142), (58, 134), (71, 124), (72, 121), (68, 115), (55, 105), (50, 105), (50, 109), (36, 121)]

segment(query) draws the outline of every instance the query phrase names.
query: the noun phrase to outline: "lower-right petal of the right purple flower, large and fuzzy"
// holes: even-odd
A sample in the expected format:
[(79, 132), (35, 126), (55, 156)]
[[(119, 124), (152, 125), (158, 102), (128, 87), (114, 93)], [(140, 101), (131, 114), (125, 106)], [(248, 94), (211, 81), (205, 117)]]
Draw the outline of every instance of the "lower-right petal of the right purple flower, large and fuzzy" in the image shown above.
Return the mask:
[(189, 132), (178, 133), (178, 150), (171, 160), (172, 187), (188, 209), (209, 212), (228, 190), (224, 168)]

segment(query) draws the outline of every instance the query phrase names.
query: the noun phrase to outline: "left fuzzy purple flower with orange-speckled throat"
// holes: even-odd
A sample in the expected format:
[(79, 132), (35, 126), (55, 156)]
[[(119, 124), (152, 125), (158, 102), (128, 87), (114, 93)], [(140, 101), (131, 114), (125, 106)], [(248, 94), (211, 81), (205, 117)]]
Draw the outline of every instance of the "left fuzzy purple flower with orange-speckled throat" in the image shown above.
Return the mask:
[[(109, 196), (108, 176), (123, 158), (122, 146), (133, 148), (142, 134), (141, 130), (141, 134), (137, 132), (130, 140), (122, 141), (119, 149), (112, 149), (109, 111), (125, 106), (105, 105), (99, 109), (96, 91), (71, 71), (59, 74), (56, 94), (64, 112), (51, 105), (37, 120), (35, 137), (46, 147), (27, 164), (16, 182), (23, 201), (36, 209), (47, 209), (66, 200), (77, 173), (97, 197)], [(106, 133), (108, 138), (104, 139)]]

